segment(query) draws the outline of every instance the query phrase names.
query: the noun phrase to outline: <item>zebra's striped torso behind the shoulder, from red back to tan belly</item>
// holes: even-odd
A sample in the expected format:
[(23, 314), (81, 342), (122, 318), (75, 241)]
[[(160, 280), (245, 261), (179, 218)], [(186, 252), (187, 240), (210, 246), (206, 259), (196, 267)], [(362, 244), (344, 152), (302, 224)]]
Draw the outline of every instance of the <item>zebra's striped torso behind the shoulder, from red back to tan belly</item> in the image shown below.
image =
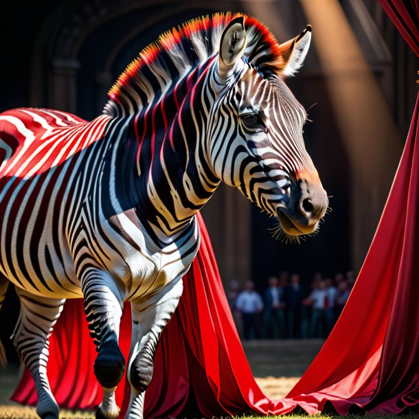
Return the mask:
[(66, 238), (71, 185), (83, 150), (104, 135), (49, 109), (0, 114), (0, 273), (38, 295), (81, 297)]

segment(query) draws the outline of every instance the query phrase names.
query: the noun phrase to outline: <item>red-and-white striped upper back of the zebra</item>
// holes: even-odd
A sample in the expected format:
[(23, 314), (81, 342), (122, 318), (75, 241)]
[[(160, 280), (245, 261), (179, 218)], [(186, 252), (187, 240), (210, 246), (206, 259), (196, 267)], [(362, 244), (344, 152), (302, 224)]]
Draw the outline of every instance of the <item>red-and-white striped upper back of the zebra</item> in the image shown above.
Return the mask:
[(0, 113), (0, 178), (29, 178), (54, 168), (102, 138), (110, 117), (86, 122), (51, 109)]

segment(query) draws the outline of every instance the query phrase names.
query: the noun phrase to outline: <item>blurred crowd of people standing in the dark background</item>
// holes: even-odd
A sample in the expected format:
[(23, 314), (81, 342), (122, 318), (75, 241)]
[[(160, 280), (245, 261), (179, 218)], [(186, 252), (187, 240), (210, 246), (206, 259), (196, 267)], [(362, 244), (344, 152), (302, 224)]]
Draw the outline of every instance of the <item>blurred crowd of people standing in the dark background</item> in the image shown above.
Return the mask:
[(227, 297), (242, 339), (309, 339), (328, 336), (355, 282), (352, 271), (324, 278), (316, 273), (303, 286), (297, 273), (271, 276), (263, 293), (248, 281), (231, 281)]

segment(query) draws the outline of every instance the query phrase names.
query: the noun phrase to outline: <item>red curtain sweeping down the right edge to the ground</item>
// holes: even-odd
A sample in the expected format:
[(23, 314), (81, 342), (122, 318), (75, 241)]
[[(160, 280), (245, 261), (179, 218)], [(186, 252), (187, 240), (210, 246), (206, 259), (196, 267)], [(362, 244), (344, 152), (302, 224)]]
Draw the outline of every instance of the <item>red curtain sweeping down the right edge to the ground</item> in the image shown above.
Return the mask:
[[(340, 414), (397, 413), (419, 402), (418, 102), (370, 251), (328, 340), (288, 397)], [(414, 258), (416, 256), (416, 258)]]

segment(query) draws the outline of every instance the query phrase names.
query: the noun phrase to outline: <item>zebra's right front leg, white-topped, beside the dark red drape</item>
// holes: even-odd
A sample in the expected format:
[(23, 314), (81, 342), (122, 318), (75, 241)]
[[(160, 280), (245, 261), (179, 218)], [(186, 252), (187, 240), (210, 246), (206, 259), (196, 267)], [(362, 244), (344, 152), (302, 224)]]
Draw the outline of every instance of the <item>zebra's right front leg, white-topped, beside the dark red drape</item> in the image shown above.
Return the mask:
[(150, 384), (157, 343), (163, 328), (168, 324), (182, 295), (183, 282), (177, 280), (163, 290), (155, 299), (142, 304), (133, 304), (133, 337), (128, 364), (128, 381), (131, 384), (129, 419), (142, 419), (144, 396)]

